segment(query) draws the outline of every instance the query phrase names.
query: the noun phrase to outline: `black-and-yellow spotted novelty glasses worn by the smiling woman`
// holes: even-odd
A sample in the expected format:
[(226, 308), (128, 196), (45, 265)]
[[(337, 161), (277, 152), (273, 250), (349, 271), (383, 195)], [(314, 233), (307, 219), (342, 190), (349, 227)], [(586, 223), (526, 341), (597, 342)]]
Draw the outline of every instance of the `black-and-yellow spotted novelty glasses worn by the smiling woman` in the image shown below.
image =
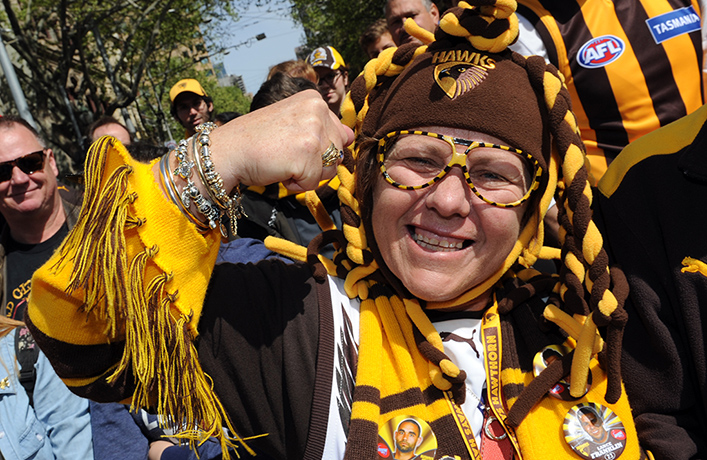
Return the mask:
[[(457, 151), (457, 146), (466, 149)], [(456, 165), (471, 190), (499, 207), (519, 206), (538, 187), (542, 168), (522, 150), (425, 131), (394, 131), (378, 142), (378, 165), (388, 183), (419, 190)]]

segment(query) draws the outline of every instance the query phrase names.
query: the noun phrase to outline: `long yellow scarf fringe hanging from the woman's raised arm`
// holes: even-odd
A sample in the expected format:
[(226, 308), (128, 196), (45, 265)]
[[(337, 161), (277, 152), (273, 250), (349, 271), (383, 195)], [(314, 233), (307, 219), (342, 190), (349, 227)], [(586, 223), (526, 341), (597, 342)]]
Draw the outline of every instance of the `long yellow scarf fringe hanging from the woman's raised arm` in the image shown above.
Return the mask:
[[(130, 205), (138, 198), (128, 184), (132, 167), (119, 166), (103, 180), (108, 153), (116, 154), (111, 146), (110, 138), (103, 138), (88, 152), (84, 200), (92, 204), (83, 206), (52, 268), (59, 271), (71, 262), (66, 292), (84, 291), (81, 308), (106, 322), (109, 337), (124, 332), (125, 350), (108, 381), (131, 370), (136, 383), (133, 408), (151, 406), (156, 399), (164, 425), (178, 432), (174, 437), (188, 441), (190, 447), (214, 437), (226, 460), (231, 458), (229, 448), (238, 446), (254, 454), (236, 434), (213, 391), (213, 382), (199, 364), (188, 327), (192, 314), (178, 314), (172, 308), (178, 293), (165, 289), (172, 273), (160, 273), (145, 283), (148, 262), (159, 248), (146, 248), (127, 260), (124, 232), (135, 231), (145, 220), (129, 215)], [(70, 261), (69, 254), (74, 254)], [(119, 328), (122, 324), (124, 331)], [(240, 457), (238, 451), (236, 455)]]

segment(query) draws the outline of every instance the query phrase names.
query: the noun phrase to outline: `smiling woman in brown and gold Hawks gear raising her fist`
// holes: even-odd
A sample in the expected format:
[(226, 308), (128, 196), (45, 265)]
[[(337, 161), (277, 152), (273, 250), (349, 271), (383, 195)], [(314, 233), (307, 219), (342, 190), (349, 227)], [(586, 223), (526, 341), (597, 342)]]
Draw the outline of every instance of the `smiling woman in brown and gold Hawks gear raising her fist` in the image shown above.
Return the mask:
[[(622, 459), (643, 458), (618, 367), (625, 281), (591, 221), (569, 94), (542, 58), (506, 49), (514, 2), (474, 4), (353, 82), (343, 228), (307, 249), (269, 241), (306, 263), (214, 266), (238, 184), (313, 190), (333, 176), (323, 153), (351, 131), (315, 91), (203, 127), (161, 167), (94, 145), (83, 221), (30, 305), (67, 384), (279, 459), (566, 458), (583, 448), (566, 418), (587, 404), (621, 421)], [(553, 197), (559, 276), (532, 268), (560, 255), (543, 246)], [(316, 194), (305, 201), (320, 219)], [(536, 375), (551, 346), (566, 353)]]

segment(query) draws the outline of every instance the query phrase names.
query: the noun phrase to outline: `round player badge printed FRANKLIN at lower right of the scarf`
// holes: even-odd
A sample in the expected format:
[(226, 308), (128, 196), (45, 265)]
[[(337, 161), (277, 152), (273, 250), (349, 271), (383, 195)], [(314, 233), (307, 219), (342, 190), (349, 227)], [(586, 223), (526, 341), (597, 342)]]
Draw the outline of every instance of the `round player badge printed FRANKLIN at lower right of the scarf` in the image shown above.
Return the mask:
[(565, 416), (562, 430), (567, 444), (587, 460), (615, 460), (626, 448), (624, 424), (601, 404), (577, 404)]

